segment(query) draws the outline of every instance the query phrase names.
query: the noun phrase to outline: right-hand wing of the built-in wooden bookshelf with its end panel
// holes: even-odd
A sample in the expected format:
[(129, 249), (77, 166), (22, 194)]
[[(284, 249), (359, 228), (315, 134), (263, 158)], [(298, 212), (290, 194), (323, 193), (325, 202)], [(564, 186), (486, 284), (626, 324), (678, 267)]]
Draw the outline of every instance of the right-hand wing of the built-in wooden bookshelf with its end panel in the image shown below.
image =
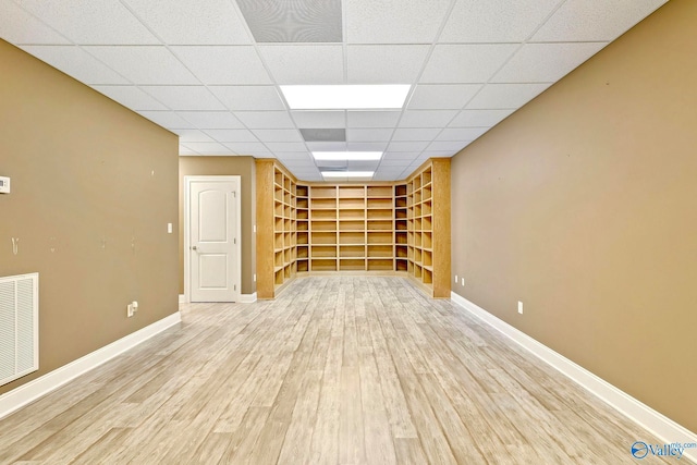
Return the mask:
[(431, 296), (450, 297), (449, 158), (431, 159), (412, 174), (406, 206), (407, 273)]

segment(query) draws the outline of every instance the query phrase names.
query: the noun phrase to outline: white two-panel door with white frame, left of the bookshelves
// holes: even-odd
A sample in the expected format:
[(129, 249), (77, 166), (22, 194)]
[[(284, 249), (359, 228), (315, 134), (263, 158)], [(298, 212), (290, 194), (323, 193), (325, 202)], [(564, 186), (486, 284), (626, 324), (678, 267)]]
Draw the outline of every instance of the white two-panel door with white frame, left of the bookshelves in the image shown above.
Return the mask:
[(187, 176), (189, 302), (240, 299), (240, 176)]

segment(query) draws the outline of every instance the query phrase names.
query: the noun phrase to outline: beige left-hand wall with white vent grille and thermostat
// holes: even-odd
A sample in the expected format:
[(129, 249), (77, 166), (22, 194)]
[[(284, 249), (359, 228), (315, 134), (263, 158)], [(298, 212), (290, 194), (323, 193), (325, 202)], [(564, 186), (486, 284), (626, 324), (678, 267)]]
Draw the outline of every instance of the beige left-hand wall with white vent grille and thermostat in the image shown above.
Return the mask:
[(2, 393), (178, 311), (178, 139), (2, 40), (0, 63), (0, 276), (40, 283), (40, 370)]

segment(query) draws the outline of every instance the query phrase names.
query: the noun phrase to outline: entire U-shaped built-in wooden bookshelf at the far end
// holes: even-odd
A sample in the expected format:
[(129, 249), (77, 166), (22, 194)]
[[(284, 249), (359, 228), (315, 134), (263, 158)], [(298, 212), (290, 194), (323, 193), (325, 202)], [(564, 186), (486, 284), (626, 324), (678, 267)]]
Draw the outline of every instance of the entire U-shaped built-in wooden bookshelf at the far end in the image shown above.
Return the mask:
[(409, 276), (450, 297), (450, 159), (398, 183), (304, 183), (258, 159), (257, 296), (297, 273)]

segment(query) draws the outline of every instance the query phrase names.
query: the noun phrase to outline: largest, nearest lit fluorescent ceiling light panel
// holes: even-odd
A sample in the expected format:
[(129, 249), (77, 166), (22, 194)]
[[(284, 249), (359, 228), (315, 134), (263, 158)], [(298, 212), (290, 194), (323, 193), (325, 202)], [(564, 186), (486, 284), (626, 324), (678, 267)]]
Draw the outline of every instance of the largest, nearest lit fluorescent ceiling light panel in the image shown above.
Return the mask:
[(402, 108), (408, 84), (280, 86), (291, 110)]

